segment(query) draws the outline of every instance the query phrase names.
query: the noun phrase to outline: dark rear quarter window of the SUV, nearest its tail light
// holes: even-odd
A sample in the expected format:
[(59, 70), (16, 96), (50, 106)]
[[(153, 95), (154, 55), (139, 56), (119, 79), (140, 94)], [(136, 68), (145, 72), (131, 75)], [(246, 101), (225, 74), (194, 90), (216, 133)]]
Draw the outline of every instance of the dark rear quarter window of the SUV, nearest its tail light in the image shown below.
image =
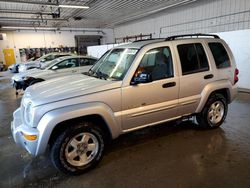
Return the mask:
[(230, 60), (226, 49), (221, 43), (209, 43), (208, 44), (218, 69), (230, 67)]

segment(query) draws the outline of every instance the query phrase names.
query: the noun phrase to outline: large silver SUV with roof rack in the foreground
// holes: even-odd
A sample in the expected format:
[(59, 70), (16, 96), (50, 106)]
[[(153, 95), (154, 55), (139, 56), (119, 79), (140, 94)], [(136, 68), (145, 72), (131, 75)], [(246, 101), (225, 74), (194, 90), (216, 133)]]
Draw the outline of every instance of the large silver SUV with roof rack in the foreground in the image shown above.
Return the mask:
[(32, 155), (48, 148), (57, 169), (80, 174), (121, 134), (193, 116), (219, 127), (237, 94), (237, 75), (231, 50), (216, 35), (117, 46), (88, 73), (28, 87), (12, 134)]

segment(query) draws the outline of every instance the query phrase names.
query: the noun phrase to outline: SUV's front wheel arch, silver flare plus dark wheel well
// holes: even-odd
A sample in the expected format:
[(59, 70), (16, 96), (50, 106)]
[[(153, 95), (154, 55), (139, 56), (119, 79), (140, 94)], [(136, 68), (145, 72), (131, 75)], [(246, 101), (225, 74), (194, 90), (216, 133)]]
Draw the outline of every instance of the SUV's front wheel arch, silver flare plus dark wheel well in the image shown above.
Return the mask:
[[(103, 103), (89, 103), (67, 106), (46, 113), (37, 126), (40, 136), (36, 155), (43, 154), (54, 137), (65, 130), (69, 123), (75, 121), (93, 121), (102, 124), (102, 129), (109, 138), (116, 138), (121, 134), (118, 122), (112, 110)], [(53, 136), (53, 137), (51, 137)]]

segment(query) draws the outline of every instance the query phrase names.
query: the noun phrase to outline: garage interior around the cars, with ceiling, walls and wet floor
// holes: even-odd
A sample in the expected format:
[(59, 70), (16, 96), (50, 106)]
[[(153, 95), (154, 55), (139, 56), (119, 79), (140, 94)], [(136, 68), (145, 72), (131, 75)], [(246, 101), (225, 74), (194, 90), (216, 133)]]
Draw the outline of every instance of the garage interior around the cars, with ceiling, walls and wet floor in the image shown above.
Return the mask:
[[(15, 95), (7, 68), (48, 51), (96, 58), (121, 43), (191, 33), (217, 34), (240, 71), (239, 94), (218, 129), (170, 122), (113, 141), (81, 176), (58, 172), (11, 136)], [(0, 187), (250, 186), (249, 0), (0, 0)], [(24, 53), (25, 52), (25, 53)]]

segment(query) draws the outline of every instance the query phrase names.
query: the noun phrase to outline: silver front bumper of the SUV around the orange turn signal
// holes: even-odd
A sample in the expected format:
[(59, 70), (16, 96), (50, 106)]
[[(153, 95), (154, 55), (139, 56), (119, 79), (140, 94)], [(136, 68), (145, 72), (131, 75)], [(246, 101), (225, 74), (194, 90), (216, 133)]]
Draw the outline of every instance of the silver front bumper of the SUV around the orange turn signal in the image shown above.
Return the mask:
[[(26, 149), (30, 154), (36, 155), (39, 131), (36, 128), (28, 127), (27, 125), (23, 124), (21, 119), (20, 108), (18, 108), (13, 113), (13, 121), (11, 122), (11, 132), (14, 141), (17, 145)], [(36, 140), (27, 140), (25, 139), (24, 135), (34, 135), (36, 136)]]

